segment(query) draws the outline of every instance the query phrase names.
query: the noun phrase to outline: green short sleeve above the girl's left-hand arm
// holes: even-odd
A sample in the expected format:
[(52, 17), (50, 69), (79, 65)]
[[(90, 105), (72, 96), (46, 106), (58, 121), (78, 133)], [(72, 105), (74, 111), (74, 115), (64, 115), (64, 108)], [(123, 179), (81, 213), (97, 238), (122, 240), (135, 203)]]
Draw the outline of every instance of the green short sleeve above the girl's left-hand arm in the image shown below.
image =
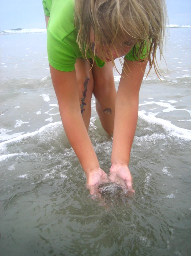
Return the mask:
[(47, 52), (49, 63), (53, 68), (65, 72), (75, 69), (76, 54), (73, 49), (50, 29), (47, 31)]

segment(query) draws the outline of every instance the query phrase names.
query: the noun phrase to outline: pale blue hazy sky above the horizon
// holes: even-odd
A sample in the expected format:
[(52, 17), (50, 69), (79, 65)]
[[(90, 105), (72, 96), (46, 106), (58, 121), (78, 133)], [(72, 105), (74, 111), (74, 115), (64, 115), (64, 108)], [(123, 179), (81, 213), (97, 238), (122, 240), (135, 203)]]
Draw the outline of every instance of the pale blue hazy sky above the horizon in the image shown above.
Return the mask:
[[(166, 2), (169, 24), (191, 25), (191, 0), (166, 0)], [(41, 0), (0, 0), (0, 31), (45, 27)]]

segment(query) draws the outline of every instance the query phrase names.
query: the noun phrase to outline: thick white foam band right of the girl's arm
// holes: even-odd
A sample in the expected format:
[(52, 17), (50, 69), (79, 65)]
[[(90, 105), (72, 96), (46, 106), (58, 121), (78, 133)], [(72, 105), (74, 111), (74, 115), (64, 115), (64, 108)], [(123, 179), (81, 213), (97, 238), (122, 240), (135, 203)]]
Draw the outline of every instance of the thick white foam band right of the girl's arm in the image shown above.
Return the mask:
[[(145, 115), (145, 114), (148, 114), (148, 115)], [(139, 117), (147, 121), (148, 123), (161, 125), (163, 129), (168, 133), (170, 133), (170, 135), (172, 136), (185, 139), (185, 140), (191, 140), (190, 130), (177, 127), (174, 124), (172, 124), (170, 121), (155, 117), (155, 115), (157, 114), (158, 113), (147, 113), (144, 110), (139, 111)]]

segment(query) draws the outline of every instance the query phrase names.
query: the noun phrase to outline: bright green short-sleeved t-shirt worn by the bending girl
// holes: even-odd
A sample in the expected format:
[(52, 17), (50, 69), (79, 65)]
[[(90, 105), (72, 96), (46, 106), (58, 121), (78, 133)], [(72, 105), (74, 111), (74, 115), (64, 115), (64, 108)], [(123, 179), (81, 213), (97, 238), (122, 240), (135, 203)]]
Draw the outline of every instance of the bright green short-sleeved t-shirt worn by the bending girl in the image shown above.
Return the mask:
[[(83, 58), (76, 42), (74, 28), (74, 0), (43, 0), (44, 14), (50, 16), (47, 28), (47, 52), (50, 65), (60, 71), (73, 71), (77, 58)], [(146, 48), (143, 55), (146, 53)], [(133, 48), (125, 59), (135, 61)], [(143, 59), (143, 58), (141, 58)], [(94, 57), (98, 67), (104, 62)]]

